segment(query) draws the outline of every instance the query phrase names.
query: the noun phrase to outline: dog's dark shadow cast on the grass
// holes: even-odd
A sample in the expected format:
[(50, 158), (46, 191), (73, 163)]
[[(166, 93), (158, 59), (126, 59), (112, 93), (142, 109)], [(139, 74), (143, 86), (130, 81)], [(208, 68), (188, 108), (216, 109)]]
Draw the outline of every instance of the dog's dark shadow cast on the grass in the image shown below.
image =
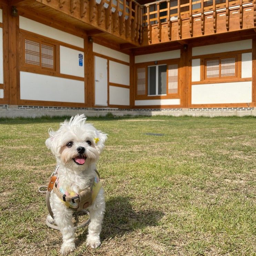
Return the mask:
[[(157, 226), (163, 212), (150, 209), (134, 211), (129, 197), (116, 196), (106, 201), (106, 212), (102, 224), (101, 240), (123, 236), (136, 229)], [(78, 236), (77, 245), (85, 242), (87, 229)]]

